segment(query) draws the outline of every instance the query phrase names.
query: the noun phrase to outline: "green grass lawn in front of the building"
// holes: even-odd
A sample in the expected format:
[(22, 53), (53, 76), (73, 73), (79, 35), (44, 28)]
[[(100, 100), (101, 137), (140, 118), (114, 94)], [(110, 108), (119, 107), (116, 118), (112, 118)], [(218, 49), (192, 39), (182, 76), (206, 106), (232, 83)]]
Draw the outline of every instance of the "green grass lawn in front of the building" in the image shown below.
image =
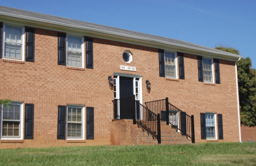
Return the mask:
[(256, 166), (256, 142), (0, 149), (0, 165)]

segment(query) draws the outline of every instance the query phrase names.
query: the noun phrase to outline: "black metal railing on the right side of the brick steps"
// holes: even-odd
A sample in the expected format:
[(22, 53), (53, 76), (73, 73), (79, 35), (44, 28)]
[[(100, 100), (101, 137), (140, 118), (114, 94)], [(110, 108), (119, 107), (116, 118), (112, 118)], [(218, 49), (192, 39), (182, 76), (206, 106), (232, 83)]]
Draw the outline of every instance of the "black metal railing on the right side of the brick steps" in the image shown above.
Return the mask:
[(189, 116), (179, 108), (168, 102), (168, 97), (162, 100), (145, 102), (146, 107), (155, 114), (160, 114), (161, 121), (171, 124), (173, 128), (192, 139), (195, 143), (194, 116)]

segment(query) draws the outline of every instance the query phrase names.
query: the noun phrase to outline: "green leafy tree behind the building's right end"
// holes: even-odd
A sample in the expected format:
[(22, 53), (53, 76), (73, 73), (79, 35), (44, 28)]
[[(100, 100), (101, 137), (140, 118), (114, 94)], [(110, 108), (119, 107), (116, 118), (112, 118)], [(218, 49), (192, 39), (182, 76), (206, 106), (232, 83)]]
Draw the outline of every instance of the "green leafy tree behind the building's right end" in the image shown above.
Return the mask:
[[(215, 49), (239, 55), (239, 50), (232, 47), (219, 46)], [(252, 69), (251, 58), (241, 58), (237, 62), (239, 87), (240, 120), (246, 126), (256, 125), (256, 70)]]

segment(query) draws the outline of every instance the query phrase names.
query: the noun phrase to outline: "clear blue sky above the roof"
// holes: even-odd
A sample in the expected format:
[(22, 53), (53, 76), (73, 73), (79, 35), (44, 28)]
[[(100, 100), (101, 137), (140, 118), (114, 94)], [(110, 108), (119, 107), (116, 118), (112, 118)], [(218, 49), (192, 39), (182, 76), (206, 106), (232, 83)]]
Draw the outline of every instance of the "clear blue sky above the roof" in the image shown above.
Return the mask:
[(256, 0), (1, 0), (0, 5), (234, 47), (256, 68)]

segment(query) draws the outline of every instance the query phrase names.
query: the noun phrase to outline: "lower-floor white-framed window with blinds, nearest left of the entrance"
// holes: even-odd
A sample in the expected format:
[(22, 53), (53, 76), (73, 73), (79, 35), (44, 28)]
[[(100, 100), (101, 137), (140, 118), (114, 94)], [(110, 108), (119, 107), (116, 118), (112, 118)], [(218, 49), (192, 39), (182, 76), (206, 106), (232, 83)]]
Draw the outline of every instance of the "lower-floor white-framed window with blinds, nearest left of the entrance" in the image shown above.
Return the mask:
[(85, 130), (84, 106), (67, 106), (67, 139), (84, 139)]

